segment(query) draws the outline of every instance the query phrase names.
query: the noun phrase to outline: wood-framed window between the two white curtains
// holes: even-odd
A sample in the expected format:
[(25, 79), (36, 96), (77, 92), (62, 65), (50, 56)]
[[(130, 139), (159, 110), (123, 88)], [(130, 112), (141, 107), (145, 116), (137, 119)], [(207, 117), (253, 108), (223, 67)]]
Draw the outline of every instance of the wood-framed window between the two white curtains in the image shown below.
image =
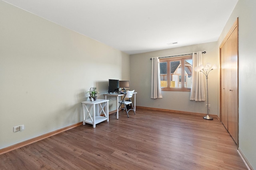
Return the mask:
[(160, 76), (163, 91), (190, 91), (192, 55), (160, 59)]

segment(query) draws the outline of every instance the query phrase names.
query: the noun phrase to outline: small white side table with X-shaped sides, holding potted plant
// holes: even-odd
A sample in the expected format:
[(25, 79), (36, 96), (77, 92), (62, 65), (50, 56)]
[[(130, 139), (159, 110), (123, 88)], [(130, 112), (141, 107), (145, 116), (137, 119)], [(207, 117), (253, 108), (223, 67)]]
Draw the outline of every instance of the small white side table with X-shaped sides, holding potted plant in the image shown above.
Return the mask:
[[(108, 121), (108, 101), (103, 99), (97, 99), (94, 102), (82, 102), (83, 112), (84, 112), (84, 119), (83, 125), (85, 123), (92, 124), (92, 127), (95, 128), (97, 123), (107, 120)], [(97, 105), (97, 115), (95, 106)], [(99, 106), (101, 108), (99, 108)], [(105, 111), (104, 111), (105, 107)], [(92, 115), (90, 112), (92, 111)], [(100, 113), (104, 113), (105, 116), (100, 116)], [(86, 114), (87, 113), (87, 114)]]

